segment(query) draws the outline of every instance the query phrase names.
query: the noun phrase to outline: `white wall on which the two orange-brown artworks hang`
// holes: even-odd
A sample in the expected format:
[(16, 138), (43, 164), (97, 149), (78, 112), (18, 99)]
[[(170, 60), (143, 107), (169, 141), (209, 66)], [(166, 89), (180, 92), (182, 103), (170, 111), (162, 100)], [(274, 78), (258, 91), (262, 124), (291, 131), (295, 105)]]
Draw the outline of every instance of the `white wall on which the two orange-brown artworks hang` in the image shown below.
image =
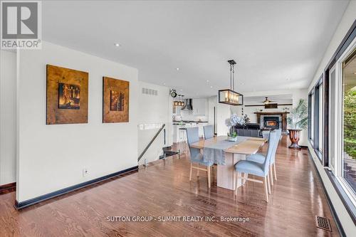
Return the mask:
[[(47, 42), (19, 62), (17, 201), (137, 165), (137, 69)], [(88, 124), (46, 125), (46, 64), (89, 73)], [(103, 76), (130, 81), (130, 122), (102, 123)]]

